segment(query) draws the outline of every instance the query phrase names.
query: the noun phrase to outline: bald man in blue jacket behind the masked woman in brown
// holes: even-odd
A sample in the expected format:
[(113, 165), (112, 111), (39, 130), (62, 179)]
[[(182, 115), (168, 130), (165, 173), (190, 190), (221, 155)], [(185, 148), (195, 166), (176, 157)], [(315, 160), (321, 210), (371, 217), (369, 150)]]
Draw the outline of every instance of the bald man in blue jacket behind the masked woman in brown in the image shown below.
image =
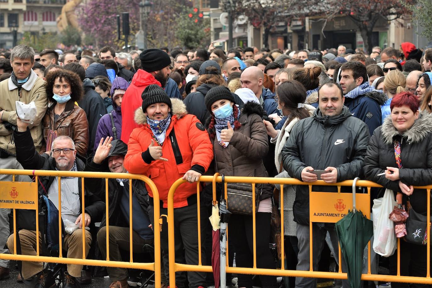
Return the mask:
[(277, 103), (274, 101), (275, 93), (264, 88), (264, 72), (257, 66), (250, 66), (243, 70), (240, 76), (241, 88), (249, 88), (257, 96), (267, 115), (277, 113)]

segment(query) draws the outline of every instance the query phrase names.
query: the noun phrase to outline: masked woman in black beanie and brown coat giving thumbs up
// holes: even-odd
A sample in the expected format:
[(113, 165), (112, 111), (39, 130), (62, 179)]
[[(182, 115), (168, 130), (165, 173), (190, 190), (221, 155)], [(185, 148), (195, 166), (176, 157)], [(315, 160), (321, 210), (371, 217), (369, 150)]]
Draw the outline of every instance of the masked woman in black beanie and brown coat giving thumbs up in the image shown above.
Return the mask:
[[(208, 131), (215, 152), (216, 171), (226, 176), (267, 177), (262, 158), (269, 144), (261, 116), (266, 114), (260, 104), (247, 102), (241, 111), (235, 105), (228, 88), (217, 86), (209, 90), (205, 104), (211, 114)], [(269, 184), (257, 184), (262, 189), (256, 220), (257, 267), (275, 269), (270, 241), (271, 196)], [(231, 215), (229, 241), (235, 247), (237, 267), (253, 265), (252, 215)], [(263, 288), (274, 288), (276, 276), (261, 275)], [(238, 274), (238, 287), (252, 288), (252, 275)]]

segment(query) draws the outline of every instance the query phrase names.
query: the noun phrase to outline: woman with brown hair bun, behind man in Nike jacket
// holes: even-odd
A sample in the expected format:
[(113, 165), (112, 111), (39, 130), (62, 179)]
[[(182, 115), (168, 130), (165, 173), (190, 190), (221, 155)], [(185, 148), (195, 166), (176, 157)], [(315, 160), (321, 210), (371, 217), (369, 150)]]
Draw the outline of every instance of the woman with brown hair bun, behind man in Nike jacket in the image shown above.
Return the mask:
[(318, 86), (320, 85), (320, 67), (302, 68), (294, 72), (292, 79), (299, 81), (306, 89), (306, 103), (318, 107)]

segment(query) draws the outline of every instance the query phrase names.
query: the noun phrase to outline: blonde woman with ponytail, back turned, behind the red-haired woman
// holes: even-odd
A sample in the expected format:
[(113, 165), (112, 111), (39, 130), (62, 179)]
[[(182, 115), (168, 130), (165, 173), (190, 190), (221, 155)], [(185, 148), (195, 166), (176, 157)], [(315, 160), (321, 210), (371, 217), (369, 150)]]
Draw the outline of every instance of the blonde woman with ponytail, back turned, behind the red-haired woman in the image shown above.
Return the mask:
[(384, 119), (391, 114), (390, 103), (393, 96), (405, 91), (407, 85), (407, 79), (403, 76), (403, 73), (399, 70), (390, 70), (384, 79), (384, 93), (387, 95), (388, 100), (381, 105), (381, 123)]

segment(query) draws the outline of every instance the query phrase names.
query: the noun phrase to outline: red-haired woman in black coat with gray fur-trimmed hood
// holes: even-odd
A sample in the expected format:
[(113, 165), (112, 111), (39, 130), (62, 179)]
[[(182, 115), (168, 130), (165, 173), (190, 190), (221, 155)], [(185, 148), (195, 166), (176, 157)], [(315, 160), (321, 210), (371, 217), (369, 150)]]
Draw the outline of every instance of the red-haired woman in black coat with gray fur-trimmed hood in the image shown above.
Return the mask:
[[(390, 109), (391, 117), (375, 129), (369, 141), (364, 161), (366, 179), (384, 187), (381, 196), (385, 188), (403, 193), (403, 204), (409, 198), (412, 209), (426, 216), (427, 192), (413, 186), (432, 184), (432, 115), (419, 114), (419, 100), (410, 92), (396, 94)], [(426, 277), (426, 245), (400, 241), (400, 246), (400, 275)], [(390, 262), (395, 273), (396, 259)], [(392, 282), (391, 286), (408, 284)]]

